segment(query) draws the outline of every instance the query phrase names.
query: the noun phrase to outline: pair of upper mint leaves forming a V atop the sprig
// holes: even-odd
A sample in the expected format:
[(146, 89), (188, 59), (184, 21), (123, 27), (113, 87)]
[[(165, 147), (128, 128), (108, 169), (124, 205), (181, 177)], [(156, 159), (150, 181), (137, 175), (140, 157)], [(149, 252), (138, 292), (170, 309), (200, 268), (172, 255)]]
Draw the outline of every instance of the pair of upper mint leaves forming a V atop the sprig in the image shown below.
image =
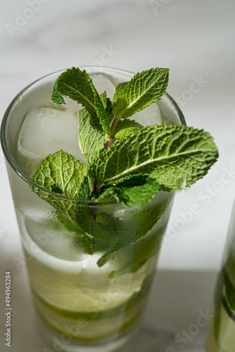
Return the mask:
[(111, 103), (106, 92), (99, 96), (85, 70), (73, 67), (58, 77), (51, 99), (61, 104), (65, 103), (63, 96), (68, 96), (81, 103), (97, 128), (101, 127), (106, 134), (107, 146), (110, 146), (115, 140), (118, 122), (157, 102), (165, 92), (168, 76), (167, 68), (152, 68), (137, 73), (130, 82), (118, 84)]

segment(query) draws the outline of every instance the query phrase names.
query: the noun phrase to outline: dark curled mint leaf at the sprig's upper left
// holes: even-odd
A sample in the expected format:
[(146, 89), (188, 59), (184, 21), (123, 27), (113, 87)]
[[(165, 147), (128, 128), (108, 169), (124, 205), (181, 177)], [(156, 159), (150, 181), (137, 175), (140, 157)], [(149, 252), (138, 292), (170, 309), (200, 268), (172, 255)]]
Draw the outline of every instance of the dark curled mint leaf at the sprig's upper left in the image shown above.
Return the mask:
[(102, 126), (105, 133), (110, 133), (106, 108), (99, 96), (94, 84), (85, 70), (71, 68), (66, 70), (56, 80), (53, 87), (52, 101), (61, 104), (65, 103), (63, 96), (82, 104), (94, 119), (96, 125)]

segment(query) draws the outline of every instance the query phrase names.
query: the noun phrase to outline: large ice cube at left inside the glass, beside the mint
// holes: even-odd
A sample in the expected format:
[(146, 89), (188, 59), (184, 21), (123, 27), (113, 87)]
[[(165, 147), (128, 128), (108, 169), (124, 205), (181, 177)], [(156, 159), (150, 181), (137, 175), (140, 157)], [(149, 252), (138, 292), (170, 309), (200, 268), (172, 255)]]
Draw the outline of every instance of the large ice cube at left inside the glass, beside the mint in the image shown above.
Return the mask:
[(43, 158), (63, 150), (84, 162), (77, 137), (77, 114), (56, 108), (32, 108), (18, 137), (18, 158), (27, 175), (32, 175)]

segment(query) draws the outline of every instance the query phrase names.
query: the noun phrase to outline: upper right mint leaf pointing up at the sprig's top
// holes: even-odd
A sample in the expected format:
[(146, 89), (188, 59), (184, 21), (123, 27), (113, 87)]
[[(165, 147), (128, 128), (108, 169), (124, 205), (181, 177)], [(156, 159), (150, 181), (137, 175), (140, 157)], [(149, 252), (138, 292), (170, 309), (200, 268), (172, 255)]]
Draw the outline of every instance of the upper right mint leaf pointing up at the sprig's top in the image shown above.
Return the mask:
[(151, 103), (156, 103), (165, 92), (169, 77), (167, 68), (151, 68), (137, 73), (127, 84), (118, 85), (113, 96), (116, 118), (129, 118)]

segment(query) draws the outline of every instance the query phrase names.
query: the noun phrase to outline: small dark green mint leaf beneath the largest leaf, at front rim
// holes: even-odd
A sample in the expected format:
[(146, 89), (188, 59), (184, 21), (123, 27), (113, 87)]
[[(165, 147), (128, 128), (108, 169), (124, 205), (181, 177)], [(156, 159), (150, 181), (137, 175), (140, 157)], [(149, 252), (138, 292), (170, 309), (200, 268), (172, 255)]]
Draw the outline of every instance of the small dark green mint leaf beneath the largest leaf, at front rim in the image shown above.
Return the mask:
[(133, 175), (115, 186), (103, 187), (97, 201), (116, 199), (123, 206), (143, 206), (158, 193), (158, 182), (149, 175)]

